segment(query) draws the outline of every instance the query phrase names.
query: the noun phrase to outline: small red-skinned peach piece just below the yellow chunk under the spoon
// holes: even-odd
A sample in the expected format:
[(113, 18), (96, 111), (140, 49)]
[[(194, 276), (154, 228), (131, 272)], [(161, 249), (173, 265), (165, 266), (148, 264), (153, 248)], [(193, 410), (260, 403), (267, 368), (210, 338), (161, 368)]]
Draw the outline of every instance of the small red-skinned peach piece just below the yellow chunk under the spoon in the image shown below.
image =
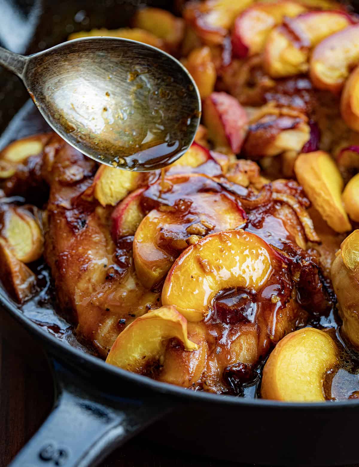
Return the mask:
[(116, 243), (120, 238), (134, 235), (144, 214), (141, 210), (141, 195), (145, 188), (139, 188), (129, 194), (113, 211), (112, 238)]

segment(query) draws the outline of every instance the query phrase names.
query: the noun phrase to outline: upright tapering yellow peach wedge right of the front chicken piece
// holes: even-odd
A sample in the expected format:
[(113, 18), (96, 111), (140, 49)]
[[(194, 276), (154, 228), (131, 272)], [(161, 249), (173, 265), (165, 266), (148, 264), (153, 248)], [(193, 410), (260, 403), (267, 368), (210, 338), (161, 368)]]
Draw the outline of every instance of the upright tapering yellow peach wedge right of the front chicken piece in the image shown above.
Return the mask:
[(324, 151), (301, 154), (294, 170), (298, 182), (328, 225), (339, 233), (351, 230), (341, 199), (343, 178), (331, 156)]

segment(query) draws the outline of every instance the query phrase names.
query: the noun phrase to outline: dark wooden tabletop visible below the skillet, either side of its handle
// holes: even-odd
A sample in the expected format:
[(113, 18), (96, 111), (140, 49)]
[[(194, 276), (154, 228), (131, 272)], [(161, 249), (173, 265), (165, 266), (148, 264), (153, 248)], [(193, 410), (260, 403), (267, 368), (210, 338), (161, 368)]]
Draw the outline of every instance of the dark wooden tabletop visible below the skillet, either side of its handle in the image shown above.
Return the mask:
[[(0, 309), (0, 467), (6, 467), (51, 410), (48, 363), (34, 340)], [(231, 467), (232, 463), (188, 456), (138, 436), (101, 467)], [(242, 466), (245, 467), (245, 466)]]

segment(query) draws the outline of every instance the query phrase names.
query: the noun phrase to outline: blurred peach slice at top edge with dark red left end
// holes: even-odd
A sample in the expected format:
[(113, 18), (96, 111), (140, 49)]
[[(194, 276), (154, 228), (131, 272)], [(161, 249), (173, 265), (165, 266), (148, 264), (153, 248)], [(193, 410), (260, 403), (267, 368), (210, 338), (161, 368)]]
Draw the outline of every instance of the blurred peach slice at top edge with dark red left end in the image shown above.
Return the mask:
[(257, 3), (238, 16), (232, 32), (233, 53), (237, 57), (259, 54), (270, 31), (285, 16), (293, 17), (306, 11), (303, 5), (290, 0), (277, 3)]

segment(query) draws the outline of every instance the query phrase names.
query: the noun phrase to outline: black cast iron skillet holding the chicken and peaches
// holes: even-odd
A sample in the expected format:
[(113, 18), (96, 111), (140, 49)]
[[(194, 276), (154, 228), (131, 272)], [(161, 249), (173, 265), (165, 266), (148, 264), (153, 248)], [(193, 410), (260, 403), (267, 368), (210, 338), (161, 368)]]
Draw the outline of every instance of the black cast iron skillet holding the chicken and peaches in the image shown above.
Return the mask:
[[(73, 28), (122, 26), (139, 3), (48, 1), (31, 52), (62, 42)], [(8, 8), (7, 0), (1, 2)], [(41, 16), (36, 9), (40, 8), (38, 2), (22, 3), (26, 8), (11, 11), (11, 15), (17, 15), (14, 21), (25, 24), (31, 20), (36, 25)], [(165, 7), (167, 2), (148, 3)], [(0, 40), (14, 51), (24, 52), (26, 38), (19, 36), (15, 26), (13, 46), (11, 34), (4, 38), (2, 33), (9, 31), (9, 24), (1, 21), (10, 21), (11, 15), (9, 8), (4, 10), (7, 16), (2, 8)], [(79, 19), (84, 23), (77, 23)], [(14, 110), (20, 108), (25, 94), (21, 85), (4, 71), (0, 71), (1, 91), (3, 120), (8, 121)], [(28, 102), (3, 134), (0, 146), (43, 130), (36, 112)], [(0, 127), (3, 123), (0, 121)], [(56, 387), (51, 414), (16, 456), (12, 467), (93, 466), (149, 425), (147, 436), (157, 443), (240, 463), (319, 466), (359, 462), (359, 402), (278, 403), (195, 393), (106, 365), (99, 358), (57, 340), (26, 318), (2, 289), (0, 305), (42, 343), (49, 355)]]

